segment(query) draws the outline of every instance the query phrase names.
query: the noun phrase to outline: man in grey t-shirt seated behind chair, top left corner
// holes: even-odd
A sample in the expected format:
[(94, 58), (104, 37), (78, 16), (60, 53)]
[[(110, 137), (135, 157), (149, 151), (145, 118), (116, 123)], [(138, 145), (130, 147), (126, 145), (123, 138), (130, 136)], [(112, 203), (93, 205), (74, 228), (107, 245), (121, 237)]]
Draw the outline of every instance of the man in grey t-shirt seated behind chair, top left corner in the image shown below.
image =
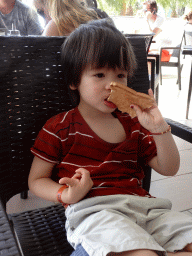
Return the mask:
[(41, 35), (38, 15), (19, 0), (0, 0), (0, 28), (20, 31), (21, 36)]

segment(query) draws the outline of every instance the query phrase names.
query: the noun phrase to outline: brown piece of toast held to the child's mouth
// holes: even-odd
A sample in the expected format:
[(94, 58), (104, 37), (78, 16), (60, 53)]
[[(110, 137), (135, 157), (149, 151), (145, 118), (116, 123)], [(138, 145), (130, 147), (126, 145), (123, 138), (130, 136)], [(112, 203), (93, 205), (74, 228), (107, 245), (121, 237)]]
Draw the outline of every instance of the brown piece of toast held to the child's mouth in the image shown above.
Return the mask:
[(128, 113), (132, 118), (136, 116), (136, 112), (130, 105), (138, 105), (144, 110), (155, 104), (153, 97), (136, 92), (123, 84), (112, 82), (110, 86), (111, 94), (107, 100), (113, 102), (121, 112)]

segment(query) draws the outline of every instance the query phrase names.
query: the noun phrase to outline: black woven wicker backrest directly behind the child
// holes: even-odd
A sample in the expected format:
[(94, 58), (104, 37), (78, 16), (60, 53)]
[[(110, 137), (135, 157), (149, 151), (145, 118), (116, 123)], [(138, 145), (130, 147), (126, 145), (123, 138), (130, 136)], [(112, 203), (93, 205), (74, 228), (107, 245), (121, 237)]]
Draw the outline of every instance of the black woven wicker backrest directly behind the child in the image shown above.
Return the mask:
[[(51, 116), (72, 108), (60, 48), (65, 37), (0, 37), (0, 197), (6, 203), (28, 189), (33, 145)], [(129, 82), (149, 88), (145, 41), (130, 38), (138, 70)]]

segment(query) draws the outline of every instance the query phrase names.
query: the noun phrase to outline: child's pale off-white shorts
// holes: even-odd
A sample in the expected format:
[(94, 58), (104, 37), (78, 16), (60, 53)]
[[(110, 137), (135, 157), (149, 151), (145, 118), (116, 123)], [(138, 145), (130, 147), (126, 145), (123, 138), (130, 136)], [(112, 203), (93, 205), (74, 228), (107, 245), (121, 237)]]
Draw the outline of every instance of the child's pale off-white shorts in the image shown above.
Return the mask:
[(137, 249), (166, 255), (192, 243), (192, 217), (171, 206), (168, 199), (132, 195), (85, 199), (66, 210), (67, 239), (90, 256)]

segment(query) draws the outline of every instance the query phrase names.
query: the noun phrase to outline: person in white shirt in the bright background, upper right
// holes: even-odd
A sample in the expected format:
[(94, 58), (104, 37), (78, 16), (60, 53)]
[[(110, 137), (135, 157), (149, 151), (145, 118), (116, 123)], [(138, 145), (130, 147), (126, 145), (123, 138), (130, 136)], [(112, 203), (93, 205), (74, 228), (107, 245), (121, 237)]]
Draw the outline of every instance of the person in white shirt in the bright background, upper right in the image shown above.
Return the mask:
[(158, 8), (156, 1), (149, 0), (146, 1), (144, 5), (146, 5), (146, 18), (149, 29), (155, 34), (154, 37), (156, 37), (160, 32), (162, 32), (164, 18), (157, 13)]

